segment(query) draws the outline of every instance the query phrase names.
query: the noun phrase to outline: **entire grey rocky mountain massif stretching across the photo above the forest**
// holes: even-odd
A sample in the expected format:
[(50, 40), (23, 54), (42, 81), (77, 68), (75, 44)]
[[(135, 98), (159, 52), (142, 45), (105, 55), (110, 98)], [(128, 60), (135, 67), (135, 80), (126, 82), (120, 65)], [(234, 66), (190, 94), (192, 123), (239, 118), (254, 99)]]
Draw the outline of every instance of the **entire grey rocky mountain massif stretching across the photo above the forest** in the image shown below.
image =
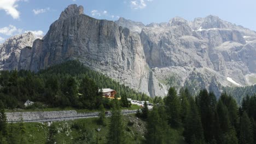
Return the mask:
[(26, 47), (32, 41), (14, 46), (21, 52), (13, 57), (4, 57), (10, 50), (2, 45), (2, 69), (38, 71), (78, 59), (152, 97), (164, 96), (170, 86), (219, 95), (222, 86), (255, 83), (256, 33), (212, 15), (145, 26), (123, 18), (96, 20), (82, 6), (69, 5), (42, 40)]

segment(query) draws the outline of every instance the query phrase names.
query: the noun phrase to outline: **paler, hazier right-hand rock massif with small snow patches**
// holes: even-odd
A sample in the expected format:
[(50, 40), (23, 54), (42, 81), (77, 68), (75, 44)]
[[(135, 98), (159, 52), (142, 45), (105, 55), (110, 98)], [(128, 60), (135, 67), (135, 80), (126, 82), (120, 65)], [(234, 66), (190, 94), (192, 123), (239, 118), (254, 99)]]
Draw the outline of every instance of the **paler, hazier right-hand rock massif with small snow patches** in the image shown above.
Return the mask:
[(219, 95), (221, 86), (253, 83), (248, 81), (255, 79), (255, 34), (217, 16), (193, 22), (175, 17), (166, 26), (142, 28), (141, 41), (149, 67), (167, 87), (207, 88)]

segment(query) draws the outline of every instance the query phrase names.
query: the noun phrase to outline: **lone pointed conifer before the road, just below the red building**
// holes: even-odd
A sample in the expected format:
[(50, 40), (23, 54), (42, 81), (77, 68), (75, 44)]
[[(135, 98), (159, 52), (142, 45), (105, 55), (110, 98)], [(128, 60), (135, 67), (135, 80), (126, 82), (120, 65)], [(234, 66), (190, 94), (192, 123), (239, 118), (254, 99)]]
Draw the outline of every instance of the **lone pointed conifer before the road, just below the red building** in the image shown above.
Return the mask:
[(108, 144), (125, 144), (125, 132), (120, 106), (117, 100), (113, 100), (112, 115), (110, 117)]

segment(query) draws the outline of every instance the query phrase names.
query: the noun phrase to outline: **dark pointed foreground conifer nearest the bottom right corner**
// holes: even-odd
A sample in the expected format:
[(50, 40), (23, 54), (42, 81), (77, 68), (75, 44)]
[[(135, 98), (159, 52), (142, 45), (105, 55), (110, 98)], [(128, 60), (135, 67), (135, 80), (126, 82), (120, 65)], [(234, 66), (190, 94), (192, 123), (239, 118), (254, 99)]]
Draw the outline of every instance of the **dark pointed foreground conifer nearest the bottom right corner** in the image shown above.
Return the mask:
[(252, 124), (246, 112), (243, 112), (240, 120), (240, 143), (253, 143)]

